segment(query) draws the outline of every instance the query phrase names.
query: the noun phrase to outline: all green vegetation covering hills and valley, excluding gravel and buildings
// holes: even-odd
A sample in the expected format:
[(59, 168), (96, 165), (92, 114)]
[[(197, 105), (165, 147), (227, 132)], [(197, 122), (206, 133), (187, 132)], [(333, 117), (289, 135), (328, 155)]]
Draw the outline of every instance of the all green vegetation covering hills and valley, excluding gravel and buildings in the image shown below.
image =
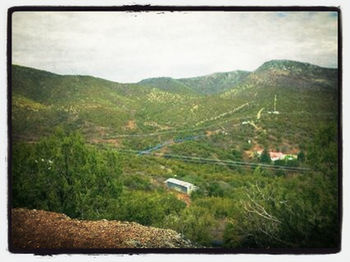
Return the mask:
[[(137, 84), (12, 70), (14, 207), (171, 228), (205, 247), (339, 245), (336, 70), (281, 60)], [(198, 190), (169, 190), (170, 177)]]

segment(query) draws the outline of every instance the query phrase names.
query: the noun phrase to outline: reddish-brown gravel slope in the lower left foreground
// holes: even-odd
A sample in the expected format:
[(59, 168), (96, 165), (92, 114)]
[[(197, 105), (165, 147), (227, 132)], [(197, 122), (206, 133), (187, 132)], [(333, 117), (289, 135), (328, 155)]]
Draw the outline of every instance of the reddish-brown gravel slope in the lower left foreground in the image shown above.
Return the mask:
[(134, 222), (87, 221), (60, 213), (12, 209), (12, 245), (20, 249), (193, 248), (179, 233)]

